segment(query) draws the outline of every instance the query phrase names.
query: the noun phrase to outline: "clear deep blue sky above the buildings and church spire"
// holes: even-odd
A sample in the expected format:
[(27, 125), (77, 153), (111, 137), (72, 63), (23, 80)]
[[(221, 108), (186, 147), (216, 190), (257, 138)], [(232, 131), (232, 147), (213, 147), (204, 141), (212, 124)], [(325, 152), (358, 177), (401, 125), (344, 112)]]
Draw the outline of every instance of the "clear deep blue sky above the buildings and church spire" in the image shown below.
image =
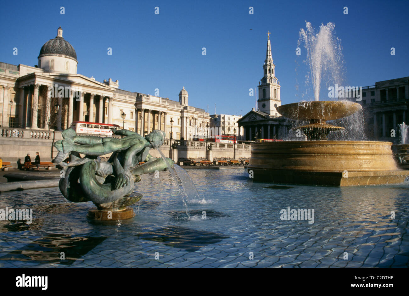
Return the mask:
[(225, 114), (244, 115), (254, 107), (249, 88), (263, 76), (267, 30), (281, 100), (299, 101), (308, 73), (305, 49), (301, 56), (295, 49), (305, 21), (317, 28), (335, 23), (346, 85), (409, 76), (408, 1), (7, 1), (2, 11), (1, 62), (36, 65), (41, 46), (61, 25), (76, 50), (79, 74), (118, 79), (132, 92), (158, 88), (173, 100), (184, 86), (189, 105), (209, 105), (211, 114), (215, 103), (216, 113)]

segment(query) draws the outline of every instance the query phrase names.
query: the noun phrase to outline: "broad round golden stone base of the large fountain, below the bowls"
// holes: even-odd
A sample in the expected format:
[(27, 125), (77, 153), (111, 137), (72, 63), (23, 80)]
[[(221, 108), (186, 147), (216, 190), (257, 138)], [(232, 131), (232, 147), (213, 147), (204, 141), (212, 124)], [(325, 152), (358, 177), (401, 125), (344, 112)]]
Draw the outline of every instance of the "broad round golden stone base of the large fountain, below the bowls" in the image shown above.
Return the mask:
[(392, 143), (377, 141), (279, 141), (252, 144), (247, 170), (255, 181), (329, 186), (405, 181)]

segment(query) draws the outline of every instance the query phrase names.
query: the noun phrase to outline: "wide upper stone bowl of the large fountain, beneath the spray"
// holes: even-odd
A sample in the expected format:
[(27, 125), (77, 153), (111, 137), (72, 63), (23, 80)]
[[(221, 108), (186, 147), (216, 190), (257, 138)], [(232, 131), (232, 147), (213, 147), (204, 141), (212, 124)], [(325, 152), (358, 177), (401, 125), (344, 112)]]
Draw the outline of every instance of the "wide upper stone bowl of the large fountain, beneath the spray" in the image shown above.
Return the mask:
[(290, 119), (327, 121), (347, 117), (361, 109), (360, 104), (351, 101), (306, 101), (279, 106), (277, 111)]

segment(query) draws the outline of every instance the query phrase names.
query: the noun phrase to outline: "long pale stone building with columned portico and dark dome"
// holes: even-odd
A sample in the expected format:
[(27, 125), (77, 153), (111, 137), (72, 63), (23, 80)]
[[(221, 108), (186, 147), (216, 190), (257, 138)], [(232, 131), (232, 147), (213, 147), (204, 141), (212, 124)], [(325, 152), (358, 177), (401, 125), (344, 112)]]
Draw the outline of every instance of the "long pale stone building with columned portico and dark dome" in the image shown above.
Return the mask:
[(118, 80), (101, 83), (77, 74), (77, 64), (61, 27), (41, 47), (38, 65), (0, 63), (0, 125), (64, 130), (73, 121), (91, 121), (124, 125), (140, 135), (164, 130), (166, 138), (172, 130), (173, 139), (191, 140), (195, 127), (209, 123), (209, 113), (189, 106), (184, 87), (179, 101), (129, 92), (119, 89)]

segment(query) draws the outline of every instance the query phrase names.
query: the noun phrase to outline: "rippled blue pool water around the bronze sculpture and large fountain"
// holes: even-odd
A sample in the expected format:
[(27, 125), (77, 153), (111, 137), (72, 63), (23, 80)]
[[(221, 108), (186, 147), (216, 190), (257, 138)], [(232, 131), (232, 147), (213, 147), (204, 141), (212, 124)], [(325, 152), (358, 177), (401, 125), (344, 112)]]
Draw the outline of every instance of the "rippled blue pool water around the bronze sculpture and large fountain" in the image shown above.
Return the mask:
[[(0, 209), (34, 218), (0, 221), (0, 267), (409, 265), (409, 184), (274, 186), (244, 169), (187, 171), (200, 194), (190, 220), (169, 172), (142, 177), (139, 215), (120, 223), (88, 221), (93, 204), (67, 202), (58, 188), (1, 193)], [(281, 220), (288, 206), (313, 209), (314, 223)]]

